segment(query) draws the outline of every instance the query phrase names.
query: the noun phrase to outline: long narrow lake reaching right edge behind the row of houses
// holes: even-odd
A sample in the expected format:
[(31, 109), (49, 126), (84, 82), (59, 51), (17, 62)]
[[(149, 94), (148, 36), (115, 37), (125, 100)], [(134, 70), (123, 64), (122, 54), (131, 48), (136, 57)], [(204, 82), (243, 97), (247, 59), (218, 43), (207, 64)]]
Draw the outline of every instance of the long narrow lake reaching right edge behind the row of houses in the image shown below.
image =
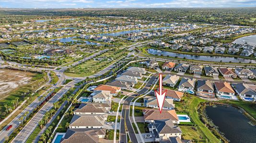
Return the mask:
[(158, 52), (155, 49), (148, 49), (148, 53), (152, 55), (163, 55), (163, 56), (169, 56), (169, 57), (178, 57), (178, 58), (186, 58), (190, 60), (198, 60), (198, 61), (216, 61), (216, 62), (239, 62), (241, 61), (242, 63), (249, 63), (250, 61), (252, 63), (256, 63), (256, 60), (249, 60), (249, 59), (242, 59), (242, 58), (234, 58), (234, 57), (221, 57), (221, 56), (197, 56), (197, 55), (188, 55), (188, 54), (180, 54), (180, 53), (175, 53), (175, 52), (170, 52), (170, 51), (162, 51)]

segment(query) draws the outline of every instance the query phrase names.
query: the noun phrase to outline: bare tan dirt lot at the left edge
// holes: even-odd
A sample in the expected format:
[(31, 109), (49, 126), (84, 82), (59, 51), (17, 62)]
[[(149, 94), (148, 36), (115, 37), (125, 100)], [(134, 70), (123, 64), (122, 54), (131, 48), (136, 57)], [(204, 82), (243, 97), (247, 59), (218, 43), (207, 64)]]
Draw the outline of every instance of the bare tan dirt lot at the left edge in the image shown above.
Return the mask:
[(0, 69), (0, 100), (13, 90), (28, 84), (35, 73)]

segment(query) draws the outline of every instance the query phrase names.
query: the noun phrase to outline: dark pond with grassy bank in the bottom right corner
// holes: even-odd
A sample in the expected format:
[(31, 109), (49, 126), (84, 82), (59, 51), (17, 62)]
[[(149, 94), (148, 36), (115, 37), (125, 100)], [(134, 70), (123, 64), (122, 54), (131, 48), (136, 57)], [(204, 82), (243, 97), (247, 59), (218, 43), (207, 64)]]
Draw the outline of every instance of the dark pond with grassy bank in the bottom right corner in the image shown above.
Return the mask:
[(206, 113), (230, 143), (256, 143), (256, 126), (250, 125), (250, 120), (237, 108), (208, 106)]

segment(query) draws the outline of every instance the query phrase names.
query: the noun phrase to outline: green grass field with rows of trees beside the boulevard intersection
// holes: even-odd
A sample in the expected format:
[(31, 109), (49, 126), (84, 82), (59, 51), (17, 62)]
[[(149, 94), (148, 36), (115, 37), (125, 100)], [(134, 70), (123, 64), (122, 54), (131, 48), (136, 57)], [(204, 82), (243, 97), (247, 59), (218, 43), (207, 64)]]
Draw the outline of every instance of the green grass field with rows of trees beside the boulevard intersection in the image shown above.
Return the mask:
[[(106, 51), (105, 53), (95, 57), (95, 58), (103, 58), (101, 61), (95, 61), (94, 59), (85, 61), (84, 63), (81, 63), (75, 67), (70, 67), (68, 70), (66, 70), (64, 73), (67, 76), (72, 77), (84, 77), (84, 76), (90, 76), (97, 72), (102, 71), (110, 64), (114, 63), (121, 57), (125, 56), (127, 52), (125, 51)], [(111, 59), (111, 60), (110, 60)]]

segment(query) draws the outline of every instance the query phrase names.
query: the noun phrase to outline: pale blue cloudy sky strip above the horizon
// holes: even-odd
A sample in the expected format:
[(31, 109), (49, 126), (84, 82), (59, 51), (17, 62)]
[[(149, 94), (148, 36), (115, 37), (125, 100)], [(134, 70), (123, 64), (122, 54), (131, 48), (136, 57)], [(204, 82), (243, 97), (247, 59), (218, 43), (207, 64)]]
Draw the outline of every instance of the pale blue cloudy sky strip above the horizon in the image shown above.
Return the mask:
[(256, 0), (0, 0), (0, 8), (226, 8)]

